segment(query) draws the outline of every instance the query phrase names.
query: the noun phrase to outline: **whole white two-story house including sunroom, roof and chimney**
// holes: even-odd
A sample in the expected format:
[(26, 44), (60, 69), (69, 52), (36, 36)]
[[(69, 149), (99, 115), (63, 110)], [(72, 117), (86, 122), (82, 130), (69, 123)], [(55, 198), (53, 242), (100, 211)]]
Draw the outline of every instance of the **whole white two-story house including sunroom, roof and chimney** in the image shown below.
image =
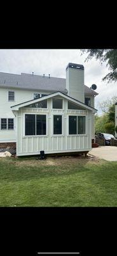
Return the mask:
[(17, 156), (88, 152), (97, 94), (83, 65), (69, 63), (66, 79), (0, 72), (0, 146), (17, 143)]

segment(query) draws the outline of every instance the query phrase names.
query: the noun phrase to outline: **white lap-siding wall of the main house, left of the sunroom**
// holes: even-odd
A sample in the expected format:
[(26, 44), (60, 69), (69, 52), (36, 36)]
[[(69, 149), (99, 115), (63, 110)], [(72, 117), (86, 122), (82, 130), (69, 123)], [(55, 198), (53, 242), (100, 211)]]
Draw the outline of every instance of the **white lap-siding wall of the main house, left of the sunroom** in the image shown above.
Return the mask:
[[(8, 101), (8, 92), (15, 92), (15, 101)], [(37, 92), (32, 90), (21, 90), (14, 88), (0, 88), (0, 143), (16, 141), (16, 122), (15, 116), (11, 111), (11, 106), (20, 104), (27, 100), (34, 99), (34, 93), (48, 94), (49, 92)], [(14, 118), (14, 130), (1, 130), (1, 118)]]

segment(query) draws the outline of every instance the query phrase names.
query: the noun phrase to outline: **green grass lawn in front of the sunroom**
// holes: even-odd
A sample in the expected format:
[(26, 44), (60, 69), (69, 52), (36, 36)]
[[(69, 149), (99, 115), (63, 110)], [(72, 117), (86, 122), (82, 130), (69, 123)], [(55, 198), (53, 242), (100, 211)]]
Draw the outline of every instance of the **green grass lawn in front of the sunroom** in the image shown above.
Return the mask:
[(0, 157), (0, 206), (117, 206), (117, 162)]

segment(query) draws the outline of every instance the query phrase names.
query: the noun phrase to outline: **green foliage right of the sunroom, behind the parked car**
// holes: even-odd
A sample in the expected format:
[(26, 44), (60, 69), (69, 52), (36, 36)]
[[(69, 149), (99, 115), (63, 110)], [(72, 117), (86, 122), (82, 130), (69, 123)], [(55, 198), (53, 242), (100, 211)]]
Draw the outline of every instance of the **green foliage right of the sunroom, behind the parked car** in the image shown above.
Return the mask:
[(106, 132), (105, 124), (108, 122), (107, 114), (102, 116), (95, 115), (95, 133)]

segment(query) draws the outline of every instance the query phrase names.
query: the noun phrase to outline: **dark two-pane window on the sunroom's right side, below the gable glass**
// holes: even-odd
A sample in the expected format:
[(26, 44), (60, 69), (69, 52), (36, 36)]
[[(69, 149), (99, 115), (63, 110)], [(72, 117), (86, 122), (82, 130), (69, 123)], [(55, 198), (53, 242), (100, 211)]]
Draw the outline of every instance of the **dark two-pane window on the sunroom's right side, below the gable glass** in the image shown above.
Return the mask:
[(69, 116), (69, 134), (85, 134), (85, 116)]

